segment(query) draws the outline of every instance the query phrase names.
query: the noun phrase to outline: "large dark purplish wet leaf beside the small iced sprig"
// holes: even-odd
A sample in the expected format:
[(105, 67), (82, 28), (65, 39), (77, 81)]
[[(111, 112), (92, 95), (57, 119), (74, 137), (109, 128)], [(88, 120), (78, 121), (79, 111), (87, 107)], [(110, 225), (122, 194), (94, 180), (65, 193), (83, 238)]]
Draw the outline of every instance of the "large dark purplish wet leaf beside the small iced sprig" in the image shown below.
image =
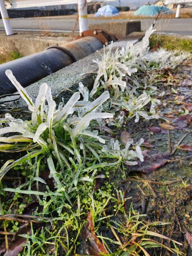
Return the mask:
[(144, 158), (144, 162), (138, 161), (138, 164), (131, 167), (131, 171), (150, 174), (159, 167), (165, 165), (170, 156), (169, 155), (153, 155)]

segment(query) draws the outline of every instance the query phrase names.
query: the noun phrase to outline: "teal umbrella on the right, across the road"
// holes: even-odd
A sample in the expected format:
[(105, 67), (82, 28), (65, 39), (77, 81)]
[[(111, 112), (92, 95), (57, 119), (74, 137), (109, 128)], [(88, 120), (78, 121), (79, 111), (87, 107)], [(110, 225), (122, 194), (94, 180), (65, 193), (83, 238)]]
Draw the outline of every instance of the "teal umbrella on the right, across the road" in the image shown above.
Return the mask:
[(143, 5), (137, 11), (134, 12), (134, 15), (135, 16), (155, 16), (160, 12), (160, 10), (161, 10), (161, 13), (164, 13), (164, 14), (173, 13), (171, 10), (169, 10), (165, 6), (163, 6), (161, 9), (161, 6)]

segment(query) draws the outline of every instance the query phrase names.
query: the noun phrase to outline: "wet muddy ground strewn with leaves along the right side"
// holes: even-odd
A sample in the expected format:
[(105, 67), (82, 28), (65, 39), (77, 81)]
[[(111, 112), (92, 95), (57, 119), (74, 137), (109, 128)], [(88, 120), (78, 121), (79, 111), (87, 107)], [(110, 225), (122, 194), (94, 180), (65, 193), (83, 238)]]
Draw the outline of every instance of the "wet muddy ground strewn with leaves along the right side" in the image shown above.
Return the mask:
[[(174, 81), (167, 83), (163, 96), (161, 111), (165, 119), (140, 121), (136, 126), (133, 122), (125, 127), (136, 141), (146, 140), (146, 163), (134, 168), (135, 173), (131, 168), (122, 186), (126, 197), (133, 197), (134, 207), (147, 214), (149, 221), (169, 222), (170, 225), (160, 228), (160, 233), (181, 242), (181, 251), (191, 255), (186, 240), (192, 230), (192, 115), (188, 114), (192, 107), (191, 63), (180, 68), (181, 72), (172, 73)], [(189, 119), (177, 119), (184, 112)], [(162, 166), (154, 170), (154, 163)], [(148, 174), (138, 173), (141, 169)], [(163, 250), (158, 253), (165, 255)]]

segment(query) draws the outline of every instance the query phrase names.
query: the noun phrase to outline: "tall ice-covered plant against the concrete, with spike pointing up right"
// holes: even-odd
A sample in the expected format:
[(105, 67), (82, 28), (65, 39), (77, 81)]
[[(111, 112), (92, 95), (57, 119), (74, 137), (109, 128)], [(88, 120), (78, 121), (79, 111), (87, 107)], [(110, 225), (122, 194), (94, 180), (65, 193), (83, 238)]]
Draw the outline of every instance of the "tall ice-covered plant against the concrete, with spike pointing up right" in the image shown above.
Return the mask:
[(104, 47), (101, 60), (93, 60), (98, 65), (97, 77), (94, 82), (90, 97), (97, 92), (99, 86), (104, 88), (111, 87), (114, 95), (118, 95), (118, 90), (122, 92), (126, 87), (125, 76), (131, 76), (137, 72), (137, 66), (141, 56), (148, 51), (149, 37), (154, 32), (151, 26), (145, 33), (142, 42), (132, 44), (128, 42), (126, 48), (119, 50), (118, 48), (113, 53), (113, 44), (109, 46), (108, 52)]

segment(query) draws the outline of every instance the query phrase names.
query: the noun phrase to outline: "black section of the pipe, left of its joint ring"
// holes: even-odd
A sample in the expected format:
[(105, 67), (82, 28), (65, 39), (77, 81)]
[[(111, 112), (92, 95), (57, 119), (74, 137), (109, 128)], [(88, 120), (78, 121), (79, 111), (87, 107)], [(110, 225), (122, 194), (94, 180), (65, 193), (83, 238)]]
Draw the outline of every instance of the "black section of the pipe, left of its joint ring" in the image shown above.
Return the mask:
[(23, 87), (27, 87), (71, 63), (73, 60), (69, 54), (54, 48), (4, 63), (0, 65), (0, 95), (16, 92), (5, 75), (7, 69), (13, 72)]

